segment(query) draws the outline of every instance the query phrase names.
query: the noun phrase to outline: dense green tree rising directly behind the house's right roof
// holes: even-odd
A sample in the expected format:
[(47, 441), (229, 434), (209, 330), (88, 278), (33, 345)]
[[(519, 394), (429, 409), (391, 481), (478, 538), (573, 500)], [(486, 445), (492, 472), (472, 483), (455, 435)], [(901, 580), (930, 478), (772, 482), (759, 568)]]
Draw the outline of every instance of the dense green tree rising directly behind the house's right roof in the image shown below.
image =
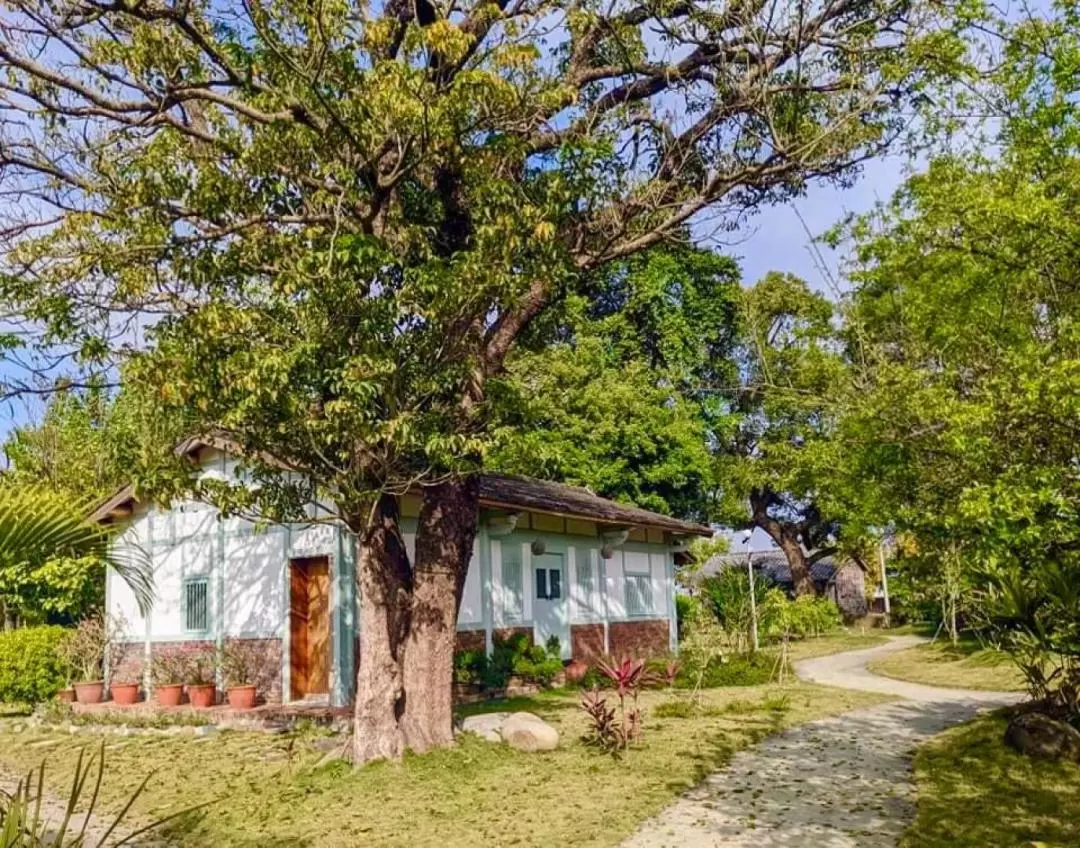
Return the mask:
[(730, 425), (739, 269), (713, 251), (657, 247), (608, 266), (538, 351), (508, 363), (514, 398), (489, 465), (708, 521), (708, 444)]

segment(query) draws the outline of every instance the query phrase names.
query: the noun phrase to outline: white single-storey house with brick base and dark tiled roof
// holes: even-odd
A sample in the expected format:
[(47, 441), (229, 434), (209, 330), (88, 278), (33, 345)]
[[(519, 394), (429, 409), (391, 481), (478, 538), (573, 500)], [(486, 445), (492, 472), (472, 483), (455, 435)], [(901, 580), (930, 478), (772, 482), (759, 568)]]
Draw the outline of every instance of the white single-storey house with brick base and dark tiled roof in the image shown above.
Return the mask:
[[(190, 440), (199, 473), (232, 479), (228, 444)], [(406, 546), (419, 498), (402, 498)], [(675, 555), (708, 527), (627, 507), (588, 489), (525, 477), (481, 479), (481, 522), (458, 617), (459, 649), (491, 650), (497, 635), (557, 636), (565, 659), (674, 650)], [(311, 515), (315, 515), (312, 507)], [(163, 510), (131, 486), (96, 512), (122, 522), (119, 544), (154, 564), (157, 601), (144, 618), (125, 583), (107, 576), (106, 604), (122, 622), (113, 679), (150, 686), (152, 658), (246, 641), (261, 658), (271, 701), (352, 697), (359, 632), (355, 547), (338, 523), (259, 527), (205, 503)]]

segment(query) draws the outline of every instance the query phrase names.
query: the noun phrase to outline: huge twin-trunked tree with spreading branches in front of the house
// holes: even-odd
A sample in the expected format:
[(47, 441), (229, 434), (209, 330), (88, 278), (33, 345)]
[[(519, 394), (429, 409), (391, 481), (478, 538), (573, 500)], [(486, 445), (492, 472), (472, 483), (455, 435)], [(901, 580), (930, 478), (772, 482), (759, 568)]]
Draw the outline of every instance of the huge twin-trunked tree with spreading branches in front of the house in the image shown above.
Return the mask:
[(224, 506), (334, 503), (355, 758), (449, 744), (508, 354), (606, 264), (851, 178), (955, 59), (946, 8), (3, 0), (0, 294), (229, 433), (262, 485)]

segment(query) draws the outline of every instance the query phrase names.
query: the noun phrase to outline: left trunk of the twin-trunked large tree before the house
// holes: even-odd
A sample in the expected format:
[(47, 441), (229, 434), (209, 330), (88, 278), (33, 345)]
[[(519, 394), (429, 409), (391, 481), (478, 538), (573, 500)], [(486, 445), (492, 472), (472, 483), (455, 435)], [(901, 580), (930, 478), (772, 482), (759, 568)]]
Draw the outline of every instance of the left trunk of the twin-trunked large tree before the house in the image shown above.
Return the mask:
[(353, 714), (353, 762), (400, 759), (405, 751), (402, 672), (408, 633), (411, 579), (397, 502), (379, 499), (356, 539), (360, 588), (360, 671)]

